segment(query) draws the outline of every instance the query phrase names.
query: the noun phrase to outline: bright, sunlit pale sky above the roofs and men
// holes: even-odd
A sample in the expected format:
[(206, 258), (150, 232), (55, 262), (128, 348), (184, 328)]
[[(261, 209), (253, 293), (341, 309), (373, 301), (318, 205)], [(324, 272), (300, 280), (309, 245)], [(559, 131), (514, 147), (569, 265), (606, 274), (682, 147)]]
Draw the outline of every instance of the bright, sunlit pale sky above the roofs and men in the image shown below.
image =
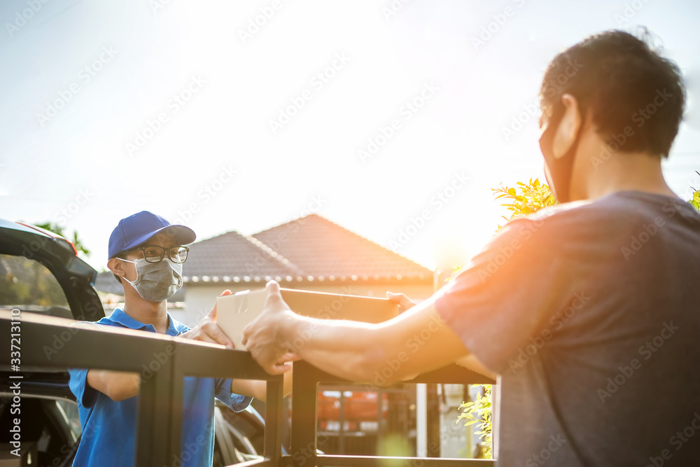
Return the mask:
[(536, 118), (503, 128), (549, 60), (637, 25), (687, 76), (665, 174), (700, 188), (698, 2), (404, 2), (3, 1), (0, 217), (77, 230), (98, 270), (142, 209), (199, 239), (314, 211), (458, 265), (505, 214), (491, 188), (544, 179)]

